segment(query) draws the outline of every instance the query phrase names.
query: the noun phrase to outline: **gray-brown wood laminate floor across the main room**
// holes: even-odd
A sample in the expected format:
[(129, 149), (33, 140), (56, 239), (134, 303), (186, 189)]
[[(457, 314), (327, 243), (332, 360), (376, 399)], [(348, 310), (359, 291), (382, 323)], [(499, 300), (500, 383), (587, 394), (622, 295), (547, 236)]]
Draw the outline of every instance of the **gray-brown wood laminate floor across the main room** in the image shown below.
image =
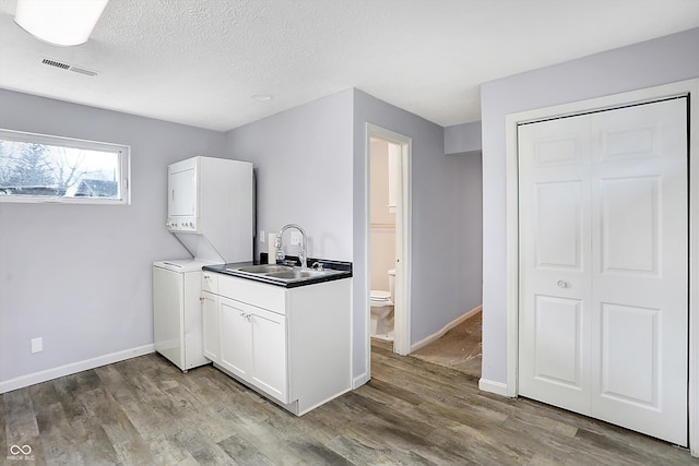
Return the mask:
[[(9, 392), (0, 464), (699, 464), (625, 429), (479, 393), (475, 378), (389, 345), (372, 345), (370, 383), (300, 418), (211, 366), (183, 374), (157, 355)], [(25, 445), (33, 461), (10, 453)]]

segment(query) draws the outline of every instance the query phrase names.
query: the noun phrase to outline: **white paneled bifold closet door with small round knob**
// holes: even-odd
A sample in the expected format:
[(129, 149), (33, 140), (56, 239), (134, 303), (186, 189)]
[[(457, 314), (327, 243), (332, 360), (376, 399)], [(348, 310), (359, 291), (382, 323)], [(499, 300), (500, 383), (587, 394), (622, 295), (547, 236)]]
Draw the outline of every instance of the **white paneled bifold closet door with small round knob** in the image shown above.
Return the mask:
[(683, 98), (519, 131), (520, 394), (682, 445), (686, 115)]

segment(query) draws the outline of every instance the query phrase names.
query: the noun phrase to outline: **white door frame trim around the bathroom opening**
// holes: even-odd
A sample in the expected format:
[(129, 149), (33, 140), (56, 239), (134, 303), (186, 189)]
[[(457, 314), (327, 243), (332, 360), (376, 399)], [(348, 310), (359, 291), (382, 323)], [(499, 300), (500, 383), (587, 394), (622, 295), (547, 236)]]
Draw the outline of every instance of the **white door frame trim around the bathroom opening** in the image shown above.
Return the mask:
[(396, 160), (399, 176), (396, 177), (396, 195), (395, 195), (395, 312), (393, 330), (393, 351), (399, 355), (407, 355), (411, 351), (411, 212), (412, 212), (412, 168), (411, 154), (413, 140), (403, 134), (395, 133), (376, 124), (366, 123), (366, 150), (364, 159), (364, 214), (365, 214), (365, 289), (367, 290), (365, 306), (365, 318), (367, 328), (367, 368), (371, 367), (371, 337), (369, 328), (371, 327), (371, 310), (369, 306), (370, 286), (370, 227), (369, 218), (370, 204), (370, 183), (369, 183), (369, 157), (371, 155), (371, 138), (389, 141), (401, 147), (401, 156)]

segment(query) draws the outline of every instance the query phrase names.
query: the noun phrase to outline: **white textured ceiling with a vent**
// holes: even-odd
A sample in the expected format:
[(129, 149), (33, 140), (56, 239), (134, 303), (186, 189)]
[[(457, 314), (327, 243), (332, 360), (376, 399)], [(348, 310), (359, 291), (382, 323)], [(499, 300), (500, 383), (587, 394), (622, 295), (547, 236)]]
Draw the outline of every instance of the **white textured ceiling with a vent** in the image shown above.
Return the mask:
[(699, 0), (110, 0), (87, 44), (55, 47), (14, 10), (0, 87), (221, 131), (347, 87), (476, 121), (483, 82), (699, 26)]

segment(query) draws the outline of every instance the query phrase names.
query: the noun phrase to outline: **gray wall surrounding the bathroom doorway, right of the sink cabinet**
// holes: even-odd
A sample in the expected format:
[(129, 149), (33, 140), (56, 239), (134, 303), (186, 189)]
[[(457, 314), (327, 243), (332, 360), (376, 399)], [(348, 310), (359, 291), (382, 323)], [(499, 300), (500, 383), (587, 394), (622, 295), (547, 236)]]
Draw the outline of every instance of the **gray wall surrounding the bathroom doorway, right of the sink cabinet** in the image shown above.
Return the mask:
[[(355, 89), (355, 335), (368, 335), (365, 311), (357, 309), (369, 294), (364, 286), (367, 122), (413, 141), (411, 342), (416, 343), (481, 303), (481, 159), (445, 155), (443, 128)], [(355, 375), (366, 370), (364, 360), (354, 362)]]

